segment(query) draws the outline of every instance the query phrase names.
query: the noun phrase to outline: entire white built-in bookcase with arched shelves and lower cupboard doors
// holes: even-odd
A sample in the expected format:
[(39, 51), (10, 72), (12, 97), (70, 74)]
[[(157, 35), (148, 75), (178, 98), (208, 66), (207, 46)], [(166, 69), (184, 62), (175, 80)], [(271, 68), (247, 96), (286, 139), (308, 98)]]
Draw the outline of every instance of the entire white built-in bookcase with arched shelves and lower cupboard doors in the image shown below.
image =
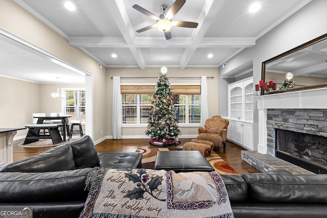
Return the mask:
[(239, 146), (253, 147), (253, 79), (252, 77), (228, 85), (227, 139)]

